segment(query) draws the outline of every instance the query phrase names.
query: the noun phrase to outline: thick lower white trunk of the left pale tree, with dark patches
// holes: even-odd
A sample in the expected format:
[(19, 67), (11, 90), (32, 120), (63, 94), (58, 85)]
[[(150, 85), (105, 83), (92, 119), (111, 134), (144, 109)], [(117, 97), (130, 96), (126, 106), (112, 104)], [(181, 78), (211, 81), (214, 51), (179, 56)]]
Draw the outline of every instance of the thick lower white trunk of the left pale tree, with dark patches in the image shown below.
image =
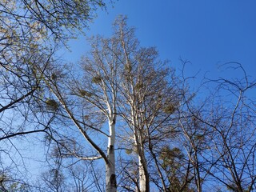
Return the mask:
[(107, 159), (106, 163), (106, 192), (116, 192), (117, 182), (115, 176), (115, 163), (114, 163), (114, 141), (115, 141), (115, 122), (114, 119), (109, 121), (110, 136), (107, 146)]

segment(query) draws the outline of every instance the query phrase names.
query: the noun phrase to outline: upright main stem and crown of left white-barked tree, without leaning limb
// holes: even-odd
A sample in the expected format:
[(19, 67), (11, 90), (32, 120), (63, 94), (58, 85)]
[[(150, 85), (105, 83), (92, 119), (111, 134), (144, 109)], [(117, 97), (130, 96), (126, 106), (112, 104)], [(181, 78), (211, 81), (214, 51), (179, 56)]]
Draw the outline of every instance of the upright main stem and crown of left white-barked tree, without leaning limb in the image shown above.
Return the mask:
[[(93, 38), (92, 57), (82, 59), (84, 79), (78, 87), (82, 98), (94, 108), (100, 110), (108, 121), (108, 143), (106, 161), (106, 191), (117, 188), (115, 174), (115, 130), (117, 121), (118, 73), (118, 43), (115, 38)], [(113, 51), (115, 50), (115, 51)], [(88, 83), (91, 82), (91, 83)]]

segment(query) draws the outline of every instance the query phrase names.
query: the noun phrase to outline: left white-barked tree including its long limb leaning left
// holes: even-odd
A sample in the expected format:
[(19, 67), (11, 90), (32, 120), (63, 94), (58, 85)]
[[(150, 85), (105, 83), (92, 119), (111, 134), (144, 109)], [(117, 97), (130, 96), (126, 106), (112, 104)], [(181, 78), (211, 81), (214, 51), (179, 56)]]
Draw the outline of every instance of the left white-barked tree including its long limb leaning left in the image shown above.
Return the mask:
[[(82, 78), (78, 78), (78, 74), (71, 73), (70, 80), (58, 81), (58, 78), (52, 78), (58, 71), (51, 70), (50, 74), (45, 74), (45, 82), (58, 99), (62, 110), (66, 113), (66, 118), (74, 123), (92, 146), (93, 154), (96, 152), (97, 155), (82, 156), (85, 151), (75, 150), (66, 144), (62, 145), (62, 154), (82, 160), (102, 158), (106, 164), (106, 191), (116, 191), (114, 145), (120, 62), (115, 54), (120, 51), (115, 38), (93, 38), (91, 43), (90, 54), (82, 58)], [(113, 49), (118, 52), (113, 53)], [(106, 121), (108, 129), (106, 129)], [(98, 139), (102, 139), (104, 141), (102, 145), (90, 134), (96, 134)], [(64, 141), (63, 138), (60, 139)], [(75, 141), (74, 138), (71, 142), (80, 141)], [(106, 153), (105, 149), (107, 149)]]

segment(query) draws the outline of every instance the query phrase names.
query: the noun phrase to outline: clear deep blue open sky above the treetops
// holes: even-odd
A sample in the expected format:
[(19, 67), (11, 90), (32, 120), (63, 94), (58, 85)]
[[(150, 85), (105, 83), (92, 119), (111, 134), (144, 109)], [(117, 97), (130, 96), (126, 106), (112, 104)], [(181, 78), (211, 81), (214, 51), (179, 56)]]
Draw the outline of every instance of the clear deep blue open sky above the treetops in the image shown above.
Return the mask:
[[(181, 57), (192, 63), (190, 70), (212, 76), (223, 62), (241, 62), (250, 75), (256, 73), (255, 0), (119, 0), (107, 10), (98, 11), (86, 34), (111, 34), (114, 18), (125, 14), (141, 45), (156, 46), (175, 68)], [(82, 37), (70, 42), (66, 58), (78, 61), (86, 44)]]

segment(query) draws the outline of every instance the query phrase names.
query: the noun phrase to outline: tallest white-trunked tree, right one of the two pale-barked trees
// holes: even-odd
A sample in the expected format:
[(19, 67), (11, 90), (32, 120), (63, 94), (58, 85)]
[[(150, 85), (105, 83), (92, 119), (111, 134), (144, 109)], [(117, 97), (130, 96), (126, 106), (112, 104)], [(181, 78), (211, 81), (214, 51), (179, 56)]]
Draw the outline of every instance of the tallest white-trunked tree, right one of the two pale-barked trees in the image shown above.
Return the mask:
[[(174, 70), (158, 58), (154, 47), (144, 48), (135, 38), (134, 28), (127, 26), (126, 18), (115, 22), (115, 34), (123, 56), (122, 81), (119, 82), (118, 106), (122, 118), (130, 128), (134, 152), (138, 155), (138, 191), (150, 191), (150, 162), (153, 158), (158, 174), (162, 177), (156, 146), (172, 138), (172, 114), (179, 105)], [(162, 186), (165, 182), (162, 178)], [(134, 181), (136, 179), (134, 178)]]

